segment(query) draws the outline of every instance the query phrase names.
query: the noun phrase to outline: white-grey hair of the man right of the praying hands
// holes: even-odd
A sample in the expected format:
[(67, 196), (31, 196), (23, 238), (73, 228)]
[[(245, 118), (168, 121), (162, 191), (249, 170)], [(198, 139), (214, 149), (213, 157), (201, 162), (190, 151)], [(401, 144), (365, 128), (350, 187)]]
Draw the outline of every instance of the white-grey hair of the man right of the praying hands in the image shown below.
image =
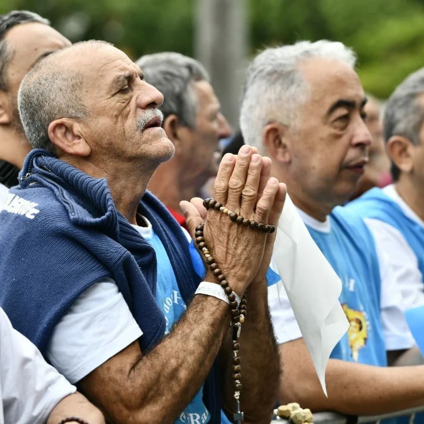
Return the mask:
[(262, 129), (267, 123), (295, 125), (296, 109), (308, 94), (299, 67), (311, 58), (338, 60), (352, 69), (356, 62), (351, 49), (328, 40), (268, 48), (254, 58), (247, 70), (240, 112), (240, 128), (246, 144), (263, 152)]

